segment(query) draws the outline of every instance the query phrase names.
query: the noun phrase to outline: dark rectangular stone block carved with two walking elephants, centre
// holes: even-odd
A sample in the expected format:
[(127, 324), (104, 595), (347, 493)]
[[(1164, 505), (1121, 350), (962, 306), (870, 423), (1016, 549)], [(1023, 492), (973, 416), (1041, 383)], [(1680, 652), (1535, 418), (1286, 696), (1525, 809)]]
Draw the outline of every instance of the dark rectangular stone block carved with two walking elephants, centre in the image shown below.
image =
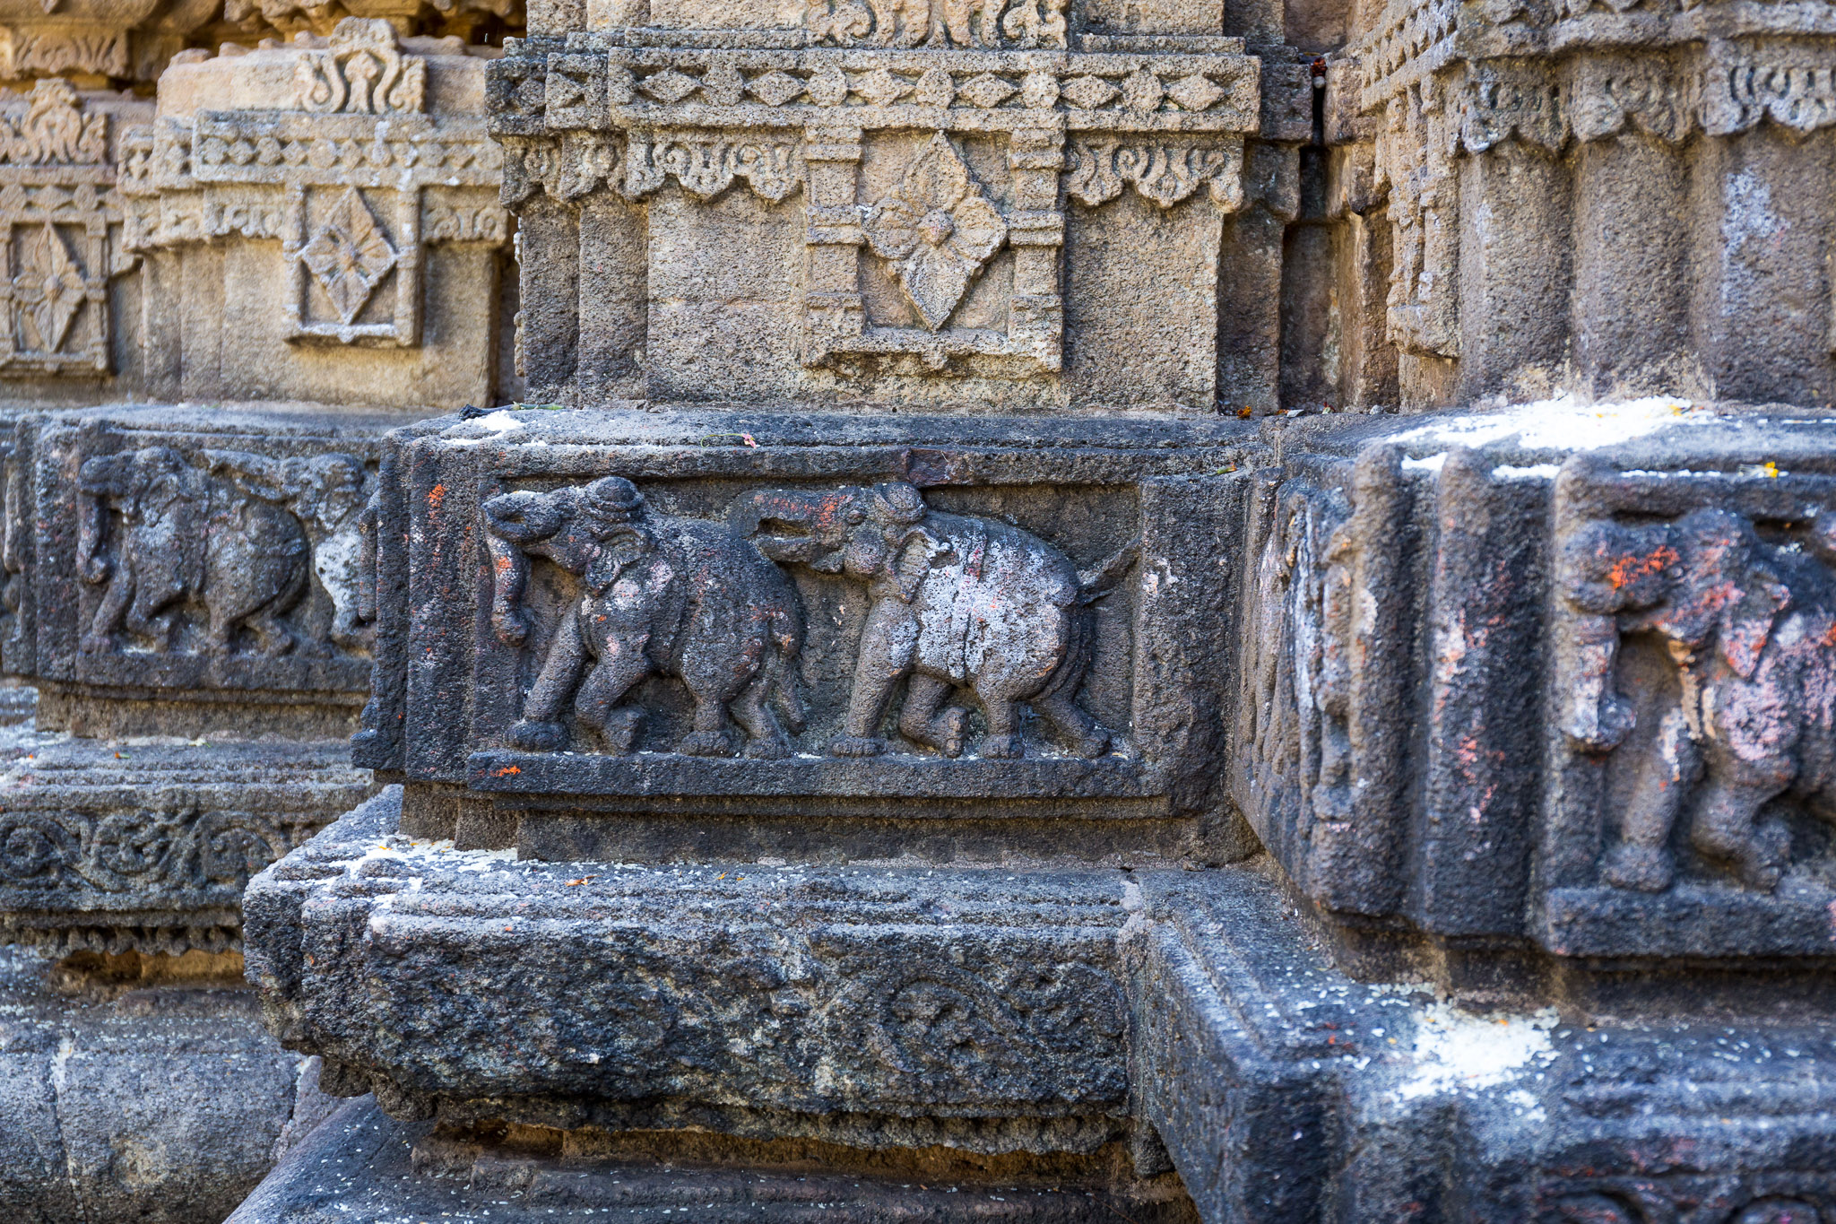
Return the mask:
[(1212, 809), (1239, 431), (898, 426), (417, 428), (384, 466), (362, 760), (727, 811)]

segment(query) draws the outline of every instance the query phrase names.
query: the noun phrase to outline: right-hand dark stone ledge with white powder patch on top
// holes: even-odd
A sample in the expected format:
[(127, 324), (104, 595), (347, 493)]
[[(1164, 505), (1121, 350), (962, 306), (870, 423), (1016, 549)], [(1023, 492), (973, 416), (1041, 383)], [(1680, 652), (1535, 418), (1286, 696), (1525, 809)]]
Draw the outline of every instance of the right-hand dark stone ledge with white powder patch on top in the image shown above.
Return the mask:
[[(1254, 872), (1153, 873), (1135, 1092), (1206, 1220), (1814, 1220), (1827, 1000), (1483, 1013), (1338, 973)], [(1768, 996), (1770, 995), (1770, 996)], [(1610, 1015), (1618, 1011), (1619, 1015)]]

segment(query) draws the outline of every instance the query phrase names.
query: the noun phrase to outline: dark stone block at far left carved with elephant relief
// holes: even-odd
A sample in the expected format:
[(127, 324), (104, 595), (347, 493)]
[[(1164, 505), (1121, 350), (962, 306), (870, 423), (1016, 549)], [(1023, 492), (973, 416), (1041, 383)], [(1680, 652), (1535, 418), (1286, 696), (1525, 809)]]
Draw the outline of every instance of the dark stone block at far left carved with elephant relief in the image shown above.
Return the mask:
[(7, 464), (7, 672), (94, 695), (356, 707), (362, 519), (387, 424), (286, 409), (26, 418)]

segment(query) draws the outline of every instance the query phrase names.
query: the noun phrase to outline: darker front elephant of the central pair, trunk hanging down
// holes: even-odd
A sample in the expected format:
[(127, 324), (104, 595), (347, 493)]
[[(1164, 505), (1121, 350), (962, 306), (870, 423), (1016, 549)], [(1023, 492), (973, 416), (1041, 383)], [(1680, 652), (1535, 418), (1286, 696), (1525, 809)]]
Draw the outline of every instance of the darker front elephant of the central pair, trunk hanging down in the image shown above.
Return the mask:
[(731, 756), (738, 721), (747, 756), (789, 752), (784, 727), (804, 727), (795, 670), (802, 606), (747, 540), (720, 523), (648, 514), (643, 494), (615, 475), (492, 497), (485, 530), (496, 569), (492, 624), (505, 642), (529, 637), (520, 606), (529, 556), (549, 558), (586, 585), (554, 631), (512, 745), (564, 747), (573, 697), (575, 718), (628, 752), (643, 710), (619, 703), (655, 673), (681, 679), (696, 703), (694, 730), (677, 751)]

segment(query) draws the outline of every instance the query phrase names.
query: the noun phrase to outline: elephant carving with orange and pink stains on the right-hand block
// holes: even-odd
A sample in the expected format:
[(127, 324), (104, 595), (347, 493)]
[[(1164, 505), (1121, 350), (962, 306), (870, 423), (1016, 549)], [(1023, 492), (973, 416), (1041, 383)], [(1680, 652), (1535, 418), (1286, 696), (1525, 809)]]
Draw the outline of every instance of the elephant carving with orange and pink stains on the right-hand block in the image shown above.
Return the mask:
[[(1812, 552), (1827, 562), (1836, 530)], [(1814, 556), (1766, 543), (1746, 519), (1695, 510), (1674, 523), (1592, 523), (1564, 543), (1561, 595), (1581, 613), (1568, 738), (1608, 752), (1632, 730), (1614, 686), (1619, 640), (1656, 633), (1682, 679), (1658, 727), (1652, 767), (1621, 817), (1605, 875), (1623, 888), (1671, 885), (1669, 839), (1685, 804), (1704, 855), (1770, 890), (1786, 833), (1757, 824), (1786, 796), (1836, 820), (1836, 582)]]

